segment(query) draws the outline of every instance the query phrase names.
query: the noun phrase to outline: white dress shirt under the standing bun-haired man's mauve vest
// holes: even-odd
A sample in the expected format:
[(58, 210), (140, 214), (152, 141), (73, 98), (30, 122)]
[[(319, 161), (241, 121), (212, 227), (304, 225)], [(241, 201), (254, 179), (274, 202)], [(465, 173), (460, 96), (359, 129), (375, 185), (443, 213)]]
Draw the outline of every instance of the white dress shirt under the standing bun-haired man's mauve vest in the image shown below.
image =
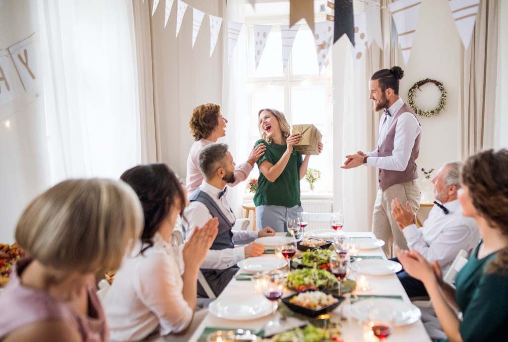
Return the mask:
[[(377, 147), (381, 146), (386, 139), (386, 133), (393, 123), (393, 118), (404, 102), (399, 97), (395, 103), (390, 106), (388, 112), (391, 116), (381, 115), (379, 124), (379, 141)], [(385, 121), (386, 119), (386, 121)], [(407, 167), (407, 162), (411, 156), (411, 151), (415, 145), (415, 140), (422, 132), (422, 128), (418, 123), (417, 118), (409, 112), (402, 113), (397, 120), (397, 127), (395, 128), (395, 138), (393, 142), (393, 152), (391, 156), (378, 157), (377, 149), (366, 153), (367, 166), (375, 166), (385, 170), (403, 171)]]

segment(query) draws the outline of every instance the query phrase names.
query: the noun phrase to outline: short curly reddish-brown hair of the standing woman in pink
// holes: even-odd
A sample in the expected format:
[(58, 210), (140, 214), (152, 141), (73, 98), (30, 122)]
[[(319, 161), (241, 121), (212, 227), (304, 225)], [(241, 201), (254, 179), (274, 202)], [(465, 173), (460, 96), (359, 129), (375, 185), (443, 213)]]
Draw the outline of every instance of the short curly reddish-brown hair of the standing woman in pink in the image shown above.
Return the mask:
[(219, 113), (220, 105), (217, 104), (199, 105), (192, 111), (189, 127), (195, 141), (210, 136), (219, 124)]

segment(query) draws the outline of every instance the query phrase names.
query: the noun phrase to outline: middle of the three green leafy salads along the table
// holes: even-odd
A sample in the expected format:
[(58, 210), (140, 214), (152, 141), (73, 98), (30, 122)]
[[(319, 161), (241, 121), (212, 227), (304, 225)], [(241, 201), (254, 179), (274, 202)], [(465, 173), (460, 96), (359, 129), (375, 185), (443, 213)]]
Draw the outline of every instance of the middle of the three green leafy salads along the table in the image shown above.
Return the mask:
[(287, 286), (297, 291), (306, 289), (328, 289), (337, 286), (337, 279), (325, 269), (302, 268), (290, 272)]

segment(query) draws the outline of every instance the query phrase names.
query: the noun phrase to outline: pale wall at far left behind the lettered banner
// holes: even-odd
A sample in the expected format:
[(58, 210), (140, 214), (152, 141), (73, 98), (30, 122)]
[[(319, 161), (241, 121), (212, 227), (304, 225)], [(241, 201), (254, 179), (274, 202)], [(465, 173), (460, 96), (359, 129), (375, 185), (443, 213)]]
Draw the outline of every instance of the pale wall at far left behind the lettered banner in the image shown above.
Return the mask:
[[(0, 8), (0, 49), (37, 30), (36, 2), (4, 2)], [(35, 60), (30, 62), (35, 63)], [(40, 76), (36, 75), (36, 78)], [(8, 81), (11, 89), (22, 88), (18, 78)], [(3, 82), (1, 86), (5, 91)], [(0, 106), (0, 121), (7, 117), (10, 121), (10, 127), (5, 122), (0, 124), (0, 243), (14, 242), (14, 230), (21, 211), (29, 200), (50, 185), (44, 95), (38, 91), (40, 89), (36, 87), (21, 93), (18, 98)]]

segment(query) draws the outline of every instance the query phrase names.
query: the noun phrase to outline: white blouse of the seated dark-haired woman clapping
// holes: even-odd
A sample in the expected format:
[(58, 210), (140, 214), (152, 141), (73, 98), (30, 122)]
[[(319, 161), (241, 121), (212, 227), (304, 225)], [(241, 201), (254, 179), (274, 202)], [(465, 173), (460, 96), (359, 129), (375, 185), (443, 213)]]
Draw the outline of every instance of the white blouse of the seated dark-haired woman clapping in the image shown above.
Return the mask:
[(193, 318), (182, 294), (178, 246), (171, 246), (159, 233), (153, 243), (141, 255), (138, 241), (106, 294), (104, 309), (112, 340), (143, 339), (157, 327), (161, 336), (180, 332)]

